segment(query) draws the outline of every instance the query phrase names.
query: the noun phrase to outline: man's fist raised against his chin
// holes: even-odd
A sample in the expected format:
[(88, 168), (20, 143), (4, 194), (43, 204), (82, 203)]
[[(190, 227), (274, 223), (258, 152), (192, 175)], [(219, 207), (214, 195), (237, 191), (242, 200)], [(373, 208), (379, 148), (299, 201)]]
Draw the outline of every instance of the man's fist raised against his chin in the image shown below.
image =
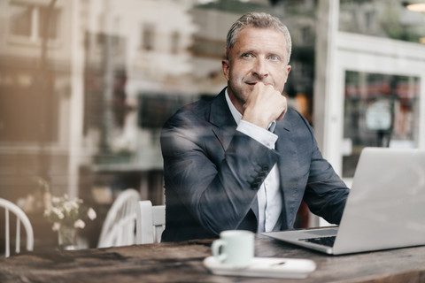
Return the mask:
[(286, 97), (271, 85), (255, 84), (243, 105), (242, 119), (265, 129), (274, 120), (282, 120), (287, 111)]

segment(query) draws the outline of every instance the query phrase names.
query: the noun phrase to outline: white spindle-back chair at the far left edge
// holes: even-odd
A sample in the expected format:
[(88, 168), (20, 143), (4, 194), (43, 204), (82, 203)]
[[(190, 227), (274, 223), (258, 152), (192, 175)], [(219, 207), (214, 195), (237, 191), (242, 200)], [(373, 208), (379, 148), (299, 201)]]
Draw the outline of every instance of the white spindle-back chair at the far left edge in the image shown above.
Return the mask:
[(9, 212), (12, 212), (16, 216), (16, 238), (15, 238), (15, 252), (20, 252), (20, 224), (25, 228), (27, 233), (27, 250), (31, 251), (34, 249), (34, 232), (31, 222), (27, 218), (27, 215), (23, 210), (19, 208), (15, 203), (11, 203), (3, 198), (0, 198), (0, 207), (4, 208), (5, 215), (5, 251), (4, 256), (11, 256), (11, 238), (10, 238), (10, 218)]

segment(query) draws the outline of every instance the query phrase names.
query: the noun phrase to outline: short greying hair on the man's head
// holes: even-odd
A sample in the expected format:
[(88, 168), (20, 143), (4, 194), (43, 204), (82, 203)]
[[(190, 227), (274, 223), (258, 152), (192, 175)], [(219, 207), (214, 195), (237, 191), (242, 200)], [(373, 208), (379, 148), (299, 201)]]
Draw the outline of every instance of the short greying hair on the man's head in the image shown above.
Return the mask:
[(244, 27), (258, 27), (258, 28), (273, 28), (280, 31), (286, 40), (286, 52), (288, 54), (287, 64), (290, 63), (290, 53), (292, 49), (292, 42), (290, 41), (290, 31), (280, 19), (267, 14), (265, 12), (249, 12), (244, 14), (228, 30), (228, 37), (226, 40), (226, 58), (228, 52), (235, 46), (237, 35), (243, 30)]

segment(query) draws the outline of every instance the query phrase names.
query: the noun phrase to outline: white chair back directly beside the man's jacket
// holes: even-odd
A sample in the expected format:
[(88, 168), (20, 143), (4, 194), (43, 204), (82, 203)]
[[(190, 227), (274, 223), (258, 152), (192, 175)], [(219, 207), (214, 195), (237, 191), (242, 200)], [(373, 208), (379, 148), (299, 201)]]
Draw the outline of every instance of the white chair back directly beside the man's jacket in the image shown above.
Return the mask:
[(152, 206), (151, 201), (140, 201), (137, 210), (136, 244), (151, 244), (161, 241), (166, 227), (166, 206)]

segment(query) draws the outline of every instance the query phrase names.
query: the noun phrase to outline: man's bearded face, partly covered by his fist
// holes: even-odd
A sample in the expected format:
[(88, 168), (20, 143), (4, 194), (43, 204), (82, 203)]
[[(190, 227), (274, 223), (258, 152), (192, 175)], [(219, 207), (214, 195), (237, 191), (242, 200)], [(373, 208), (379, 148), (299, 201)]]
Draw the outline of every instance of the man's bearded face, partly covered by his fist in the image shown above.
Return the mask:
[(228, 80), (228, 95), (238, 111), (243, 113), (243, 104), (259, 81), (283, 92), (290, 73), (287, 56), (285, 37), (280, 31), (243, 28), (228, 59), (221, 64)]

